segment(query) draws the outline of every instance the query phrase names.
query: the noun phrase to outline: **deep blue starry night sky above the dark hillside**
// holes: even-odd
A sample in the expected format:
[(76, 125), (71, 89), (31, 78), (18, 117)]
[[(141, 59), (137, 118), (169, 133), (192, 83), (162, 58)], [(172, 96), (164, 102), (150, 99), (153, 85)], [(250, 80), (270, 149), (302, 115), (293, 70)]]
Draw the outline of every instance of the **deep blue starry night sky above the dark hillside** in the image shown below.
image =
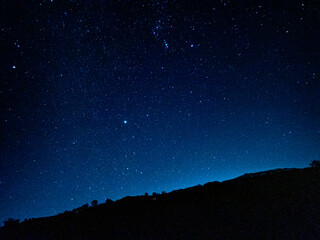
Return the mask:
[(320, 158), (318, 0), (0, 4), (1, 222)]

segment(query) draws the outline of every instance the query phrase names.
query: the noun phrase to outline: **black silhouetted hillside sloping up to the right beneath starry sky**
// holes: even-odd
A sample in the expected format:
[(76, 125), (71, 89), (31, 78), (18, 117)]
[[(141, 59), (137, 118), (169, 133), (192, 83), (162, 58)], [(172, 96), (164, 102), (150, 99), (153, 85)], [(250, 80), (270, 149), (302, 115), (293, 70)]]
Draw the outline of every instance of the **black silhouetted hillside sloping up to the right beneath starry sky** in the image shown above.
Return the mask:
[(246, 174), (7, 224), (0, 239), (320, 239), (320, 169)]

